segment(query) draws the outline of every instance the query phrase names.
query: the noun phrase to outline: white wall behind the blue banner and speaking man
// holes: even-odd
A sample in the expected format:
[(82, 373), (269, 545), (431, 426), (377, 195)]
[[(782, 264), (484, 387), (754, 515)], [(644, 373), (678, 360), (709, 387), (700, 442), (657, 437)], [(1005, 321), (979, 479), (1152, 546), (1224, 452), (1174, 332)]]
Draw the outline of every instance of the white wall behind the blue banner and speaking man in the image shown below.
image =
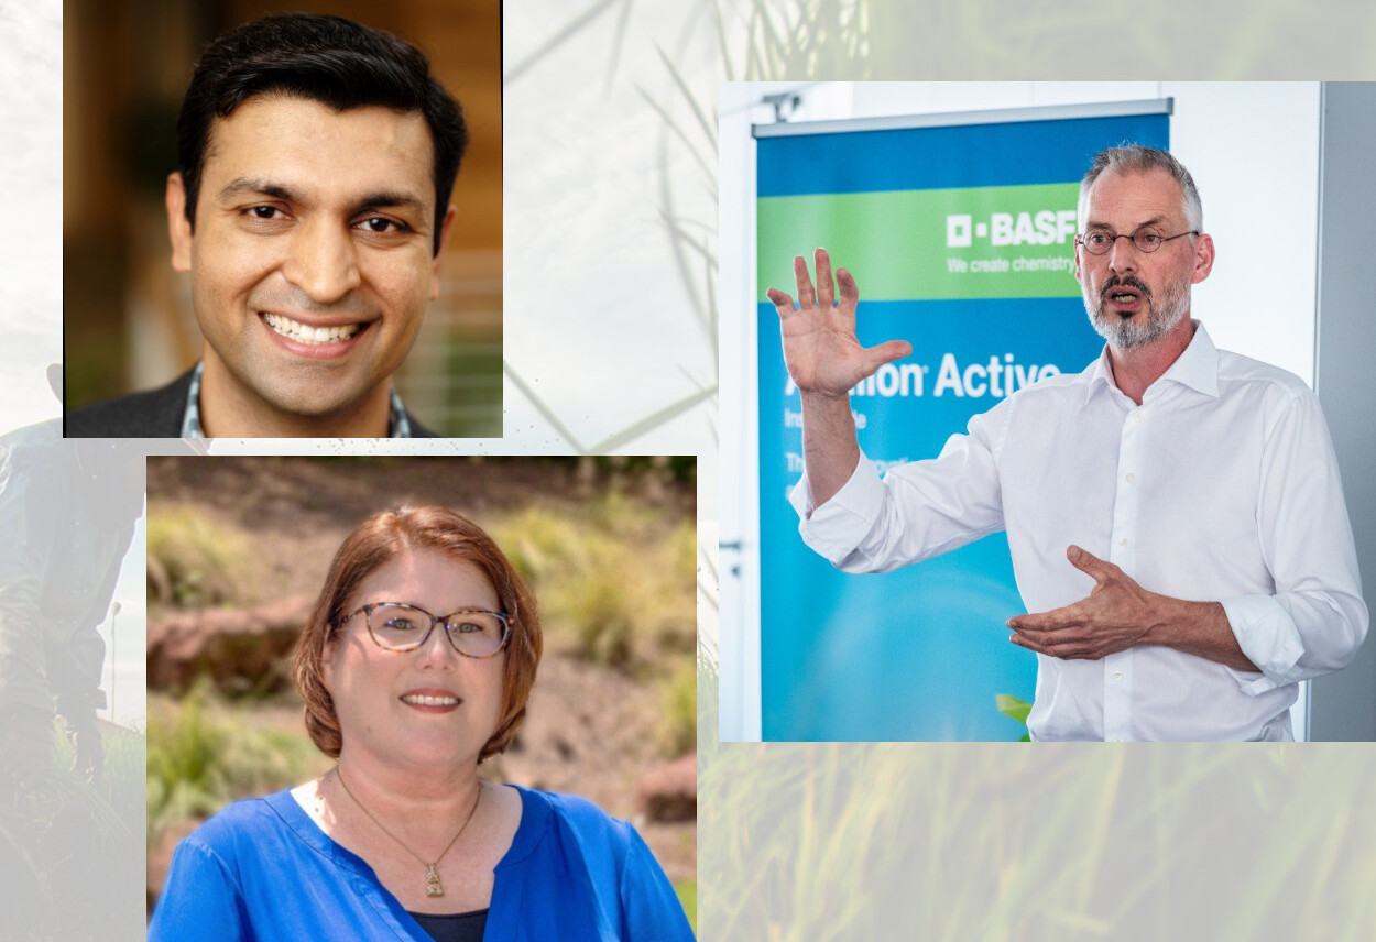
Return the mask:
[[(1204, 228), (1218, 248), (1212, 275), (1194, 286), (1193, 315), (1219, 347), (1281, 366), (1310, 385), (1314, 381), (1317, 83), (722, 83), (722, 741), (760, 738), (755, 166), (750, 124), (773, 121), (773, 109), (757, 102), (788, 89), (802, 96), (793, 122), (1174, 98), (1171, 151), (1194, 176)], [(758, 340), (779, 342), (777, 334)], [(729, 549), (736, 542), (739, 551)], [(1295, 723), (1300, 733), (1303, 703), (1302, 697)]]

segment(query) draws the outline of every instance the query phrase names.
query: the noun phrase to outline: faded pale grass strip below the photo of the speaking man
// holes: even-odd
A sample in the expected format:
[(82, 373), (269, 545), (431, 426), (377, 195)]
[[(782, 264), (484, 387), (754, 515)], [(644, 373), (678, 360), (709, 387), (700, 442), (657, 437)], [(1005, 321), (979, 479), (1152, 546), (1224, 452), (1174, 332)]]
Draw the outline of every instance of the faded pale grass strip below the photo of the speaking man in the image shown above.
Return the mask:
[(706, 751), (700, 866), (732, 875), (711, 884), (707, 938), (1355, 941), (1376, 925), (1376, 754), (1351, 744)]

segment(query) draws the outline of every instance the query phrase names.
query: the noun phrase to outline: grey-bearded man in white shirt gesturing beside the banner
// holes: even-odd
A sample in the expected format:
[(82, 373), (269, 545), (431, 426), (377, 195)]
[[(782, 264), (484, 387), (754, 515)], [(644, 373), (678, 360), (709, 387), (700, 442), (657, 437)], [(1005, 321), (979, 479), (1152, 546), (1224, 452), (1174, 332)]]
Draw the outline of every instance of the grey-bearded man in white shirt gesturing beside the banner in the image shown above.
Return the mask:
[(882, 572), (1006, 529), (1031, 612), (1010, 639), (1039, 655), (1035, 740), (1289, 740), (1296, 682), (1346, 666), (1368, 626), (1318, 400), (1190, 318), (1214, 241), (1174, 157), (1104, 151), (1079, 217), (1075, 272), (1104, 355), (882, 481), (848, 393), (911, 345), (860, 347), (850, 274), (837, 304), (827, 253), (816, 290), (794, 260), (799, 308), (769, 298), (802, 399), (802, 536), (848, 572)]

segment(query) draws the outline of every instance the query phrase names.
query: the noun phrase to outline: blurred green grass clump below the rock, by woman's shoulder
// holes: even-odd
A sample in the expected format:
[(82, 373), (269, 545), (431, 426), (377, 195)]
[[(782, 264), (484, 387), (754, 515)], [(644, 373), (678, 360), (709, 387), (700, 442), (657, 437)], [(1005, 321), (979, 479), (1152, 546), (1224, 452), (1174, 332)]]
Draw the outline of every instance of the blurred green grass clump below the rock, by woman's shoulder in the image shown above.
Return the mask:
[(329, 760), (304, 733), (266, 729), (216, 701), (202, 681), (183, 700), (149, 697), (147, 840), (318, 774)]

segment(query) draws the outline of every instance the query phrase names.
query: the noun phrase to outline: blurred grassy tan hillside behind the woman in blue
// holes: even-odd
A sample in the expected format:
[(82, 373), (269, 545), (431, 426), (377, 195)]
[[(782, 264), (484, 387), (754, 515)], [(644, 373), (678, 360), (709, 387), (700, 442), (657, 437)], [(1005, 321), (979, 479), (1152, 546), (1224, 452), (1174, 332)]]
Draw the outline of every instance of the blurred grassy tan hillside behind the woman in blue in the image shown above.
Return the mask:
[[(630, 719), (644, 732), (629, 744), (592, 748), (575, 734), (574, 704), (566, 714), (557, 701), (538, 708), (533, 700), (517, 743), (483, 774), (527, 787), (574, 782), (559, 789), (601, 798), (610, 813), (634, 818), (636, 770), (696, 745), (695, 490), (692, 458), (151, 458), (150, 626), (189, 611), (314, 594), (338, 540), (373, 510), (453, 506), (493, 535), (535, 593), (545, 631), (537, 694), (555, 682), (555, 696), (586, 699), (592, 705), (585, 708), (612, 722), (616, 708), (637, 711)], [(150, 650), (157, 637), (150, 628)], [(238, 678), (260, 670), (267, 644), (230, 639), (187, 689), (150, 689), (150, 857), (226, 803), (294, 785), (332, 765), (305, 736), (294, 693), (283, 693), (279, 681)], [(270, 672), (285, 671), (285, 653), (271, 660)], [(150, 656), (150, 686), (157, 686), (151, 666)], [(549, 679), (542, 685), (542, 678)], [(588, 696), (566, 686), (575, 682)], [(592, 693), (605, 688), (605, 697), (634, 692), (636, 699), (600, 701), (586, 685)], [(527, 736), (534, 722), (555, 727), (560, 748), (574, 754), (561, 778), (548, 770), (552, 760), (531, 755), (541, 748)], [(618, 752), (627, 748), (629, 759)], [(522, 780), (530, 769), (539, 780)], [(583, 780), (586, 791), (577, 788)], [(608, 807), (608, 793), (627, 803)], [(676, 888), (691, 901), (691, 822), (681, 837), (656, 837), (654, 824), (637, 826), (656, 854), (667, 846), (676, 858), (687, 855)]]

